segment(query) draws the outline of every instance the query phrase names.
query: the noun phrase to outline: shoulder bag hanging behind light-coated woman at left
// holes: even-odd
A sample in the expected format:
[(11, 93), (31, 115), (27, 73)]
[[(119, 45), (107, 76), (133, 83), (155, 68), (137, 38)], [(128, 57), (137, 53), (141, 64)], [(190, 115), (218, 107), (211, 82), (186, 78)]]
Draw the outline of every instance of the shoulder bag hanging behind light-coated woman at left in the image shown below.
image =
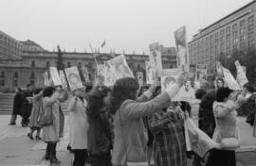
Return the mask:
[(53, 124), (53, 114), (51, 107), (47, 109), (44, 109), (43, 107), (41, 108), (40, 115), (38, 118), (38, 124), (42, 126)]

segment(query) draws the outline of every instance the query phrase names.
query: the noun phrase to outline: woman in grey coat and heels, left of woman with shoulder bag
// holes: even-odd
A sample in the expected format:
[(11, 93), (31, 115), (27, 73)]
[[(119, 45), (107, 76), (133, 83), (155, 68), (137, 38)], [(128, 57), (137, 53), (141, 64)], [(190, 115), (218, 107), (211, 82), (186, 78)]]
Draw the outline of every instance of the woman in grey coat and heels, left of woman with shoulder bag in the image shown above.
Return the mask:
[(41, 125), (38, 124), (38, 118), (40, 115), (40, 111), (43, 108), (43, 89), (36, 89), (34, 91), (34, 96), (32, 98), (33, 108), (30, 114), (30, 120), (28, 126), (30, 127), (30, 132), (27, 133), (27, 137), (30, 140), (34, 140), (33, 133), (36, 130), (36, 140), (41, 140), (40, 131)]

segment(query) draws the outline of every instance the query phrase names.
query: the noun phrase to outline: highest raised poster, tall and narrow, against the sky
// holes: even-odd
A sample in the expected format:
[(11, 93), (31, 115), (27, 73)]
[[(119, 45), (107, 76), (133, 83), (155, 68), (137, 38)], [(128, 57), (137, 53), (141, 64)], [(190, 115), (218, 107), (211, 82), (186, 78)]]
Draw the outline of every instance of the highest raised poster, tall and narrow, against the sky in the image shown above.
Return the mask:
[(177, 50), (177, 66), (183, 71), (187, 71), (189, 66), (189, 55), (187, 51), (187, 34), (186, 26), (182, 26), (174, 32), (175, 44)]

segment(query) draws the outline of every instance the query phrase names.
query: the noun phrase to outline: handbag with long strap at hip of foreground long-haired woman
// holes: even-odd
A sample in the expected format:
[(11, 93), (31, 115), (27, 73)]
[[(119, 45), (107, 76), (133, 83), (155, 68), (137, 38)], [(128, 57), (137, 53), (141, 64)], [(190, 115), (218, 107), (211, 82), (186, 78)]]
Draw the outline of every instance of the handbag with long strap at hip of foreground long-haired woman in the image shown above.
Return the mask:
[[(122, 125), (120, 110), (119, 110), (119, 120), (120, 120), (120, 125)], [(131, 164), (130, 162), (138, 162), (138, 163), (146, 162), (147, 161), (146, 151), (144, 151), (144, 149), (142, 149), (140, 147), (136, 147), (136, 146), (130, 146), (130, 148), (128, 149), (128, 146), (126, 144), (127, 141), (125, 141), (126, 138), (124, 137), (121, 128), (120, 128), (120, 131), (121, 131), (121, 137), (124, 142), (123, 145), (126, 150), (126, 161), (129, 163), (129, 165)], [(144, 143), (143, 140), (142, 140), (142, 142)]]

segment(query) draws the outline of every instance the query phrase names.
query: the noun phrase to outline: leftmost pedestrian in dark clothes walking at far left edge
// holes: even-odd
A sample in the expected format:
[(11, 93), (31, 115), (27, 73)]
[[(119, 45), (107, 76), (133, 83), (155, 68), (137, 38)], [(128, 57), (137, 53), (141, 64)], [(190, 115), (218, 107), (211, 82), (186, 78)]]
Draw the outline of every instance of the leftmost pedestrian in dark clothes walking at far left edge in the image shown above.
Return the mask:
[(22, 106), (22, 90), (20, 88), (15, 88), (15, 96), (12, 105), (12, 113), (9, 121), (9, 125), (16, 125), (17, 115), (21, 115)]

